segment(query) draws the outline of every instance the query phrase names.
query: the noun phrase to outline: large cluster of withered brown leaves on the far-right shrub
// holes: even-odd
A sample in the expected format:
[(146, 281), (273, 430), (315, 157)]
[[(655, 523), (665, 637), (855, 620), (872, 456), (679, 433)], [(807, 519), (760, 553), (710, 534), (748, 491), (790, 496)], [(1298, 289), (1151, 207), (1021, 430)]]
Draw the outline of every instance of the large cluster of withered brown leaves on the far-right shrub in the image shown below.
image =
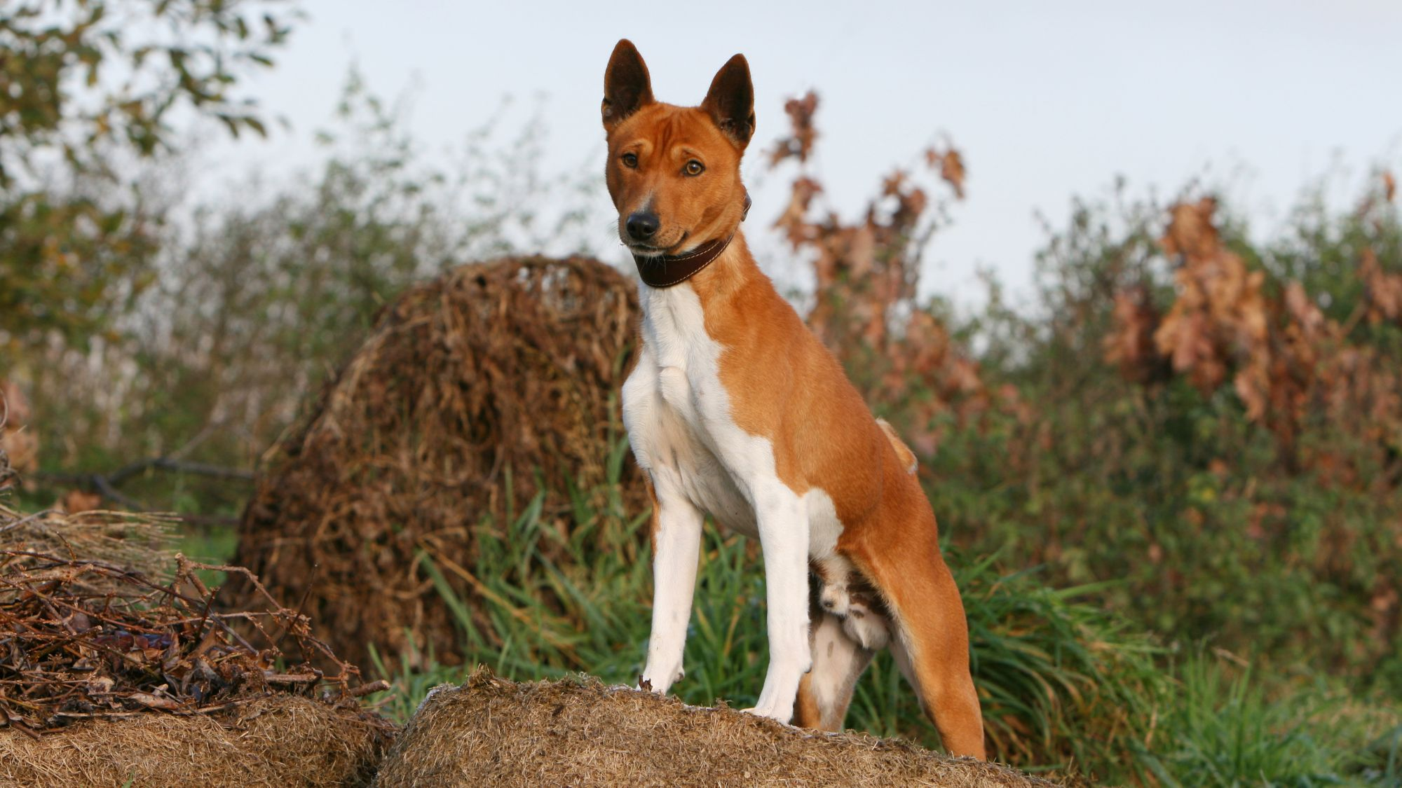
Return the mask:
[[(1265, 271), (1223, 243), (1216, 210), (1213, 198), (1169, 209), (1159, 244), (1178, 264), (1176, 297), (1159, 318), (1143, 286), (1117, 292), (1105, 360), (1136, 383), (1162, 379), (1168, 362), (1203, 395), (1230, 381), (1246, 416), (1287, 451), (1311, 414), (1353, 422), (1373, 439), (1402, 429), (1396, 373), (1374, 349), (1350, 342), (1356, 318), (1345, 327), (1328, 318), (1300, 282), (1269, 286)], [(1385, 272), (1364, 248), (1357, 276), (1366, 290), (1360, 314), (1402, 318), (1402, 275)]]

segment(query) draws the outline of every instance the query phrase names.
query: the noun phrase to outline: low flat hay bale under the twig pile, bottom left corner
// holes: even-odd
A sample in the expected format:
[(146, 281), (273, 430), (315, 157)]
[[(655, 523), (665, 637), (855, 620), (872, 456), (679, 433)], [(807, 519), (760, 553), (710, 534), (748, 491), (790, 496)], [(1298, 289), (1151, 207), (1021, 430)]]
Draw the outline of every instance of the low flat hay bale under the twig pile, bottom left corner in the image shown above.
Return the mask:
[(226, 715), (137, 714), (42, 736), (3, 729), (0, 785), (366, 785), (390, 738), (355, 709), (269, 695)]

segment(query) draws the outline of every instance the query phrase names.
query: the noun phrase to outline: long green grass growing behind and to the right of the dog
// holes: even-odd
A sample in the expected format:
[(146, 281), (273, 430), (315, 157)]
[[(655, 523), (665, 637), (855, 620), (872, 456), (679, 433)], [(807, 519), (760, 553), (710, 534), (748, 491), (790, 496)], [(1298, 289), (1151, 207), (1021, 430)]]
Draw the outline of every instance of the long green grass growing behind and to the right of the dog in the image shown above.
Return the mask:
[[(508, 523), (484, 520), (471, 566), (425, 555), (425, 579), (454, 613), (467, 665), (432, 653), (391, 663), (376, 652), (370, 672), (394, 687), (379, 698), (384, 711), (407, 719), (430, 687), (461, 681), (475, 665), (516, 680), (587, 672), (635, 684), (651, 621), (646, 516), (627, 517), (617, 495), (608, 499), (596, 512), (575, 495), (583, 524), (568, 536), (545, 527), (540, 499)], [(948, 559), (988, 736), (1008, 763), (1110, 785), (1402, 785), (1395, 704), (1363, 714), (1318, 687), (1267, 694), (1262, 673), (1175, 655), (1099, 607), (1103, 583), (1053, 589), (1036, 572), (1000, 571), (995, 555)], [(471, 600), (454, 590), (467, 578)], [(708, 524), (687, 674), (673, 691), (693, 704), (753, 705), (768, 659), (764, 621), (758, 545)], [(858, 684), (847, 725), (939, 745), (887, 655)]]

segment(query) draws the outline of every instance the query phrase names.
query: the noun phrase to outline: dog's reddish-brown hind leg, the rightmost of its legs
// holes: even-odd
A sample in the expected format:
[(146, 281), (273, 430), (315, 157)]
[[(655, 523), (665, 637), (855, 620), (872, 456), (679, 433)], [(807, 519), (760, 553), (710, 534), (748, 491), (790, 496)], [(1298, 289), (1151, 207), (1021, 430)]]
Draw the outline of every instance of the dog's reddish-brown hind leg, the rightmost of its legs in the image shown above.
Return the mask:
[(928, 534), (924, 544), (896, 550), (858, 547), (851, 558), (886, 599), (896, 662), (945, 749), (983, 759), (983, 714), (969, 674), (969, 624), (934, 529)]

